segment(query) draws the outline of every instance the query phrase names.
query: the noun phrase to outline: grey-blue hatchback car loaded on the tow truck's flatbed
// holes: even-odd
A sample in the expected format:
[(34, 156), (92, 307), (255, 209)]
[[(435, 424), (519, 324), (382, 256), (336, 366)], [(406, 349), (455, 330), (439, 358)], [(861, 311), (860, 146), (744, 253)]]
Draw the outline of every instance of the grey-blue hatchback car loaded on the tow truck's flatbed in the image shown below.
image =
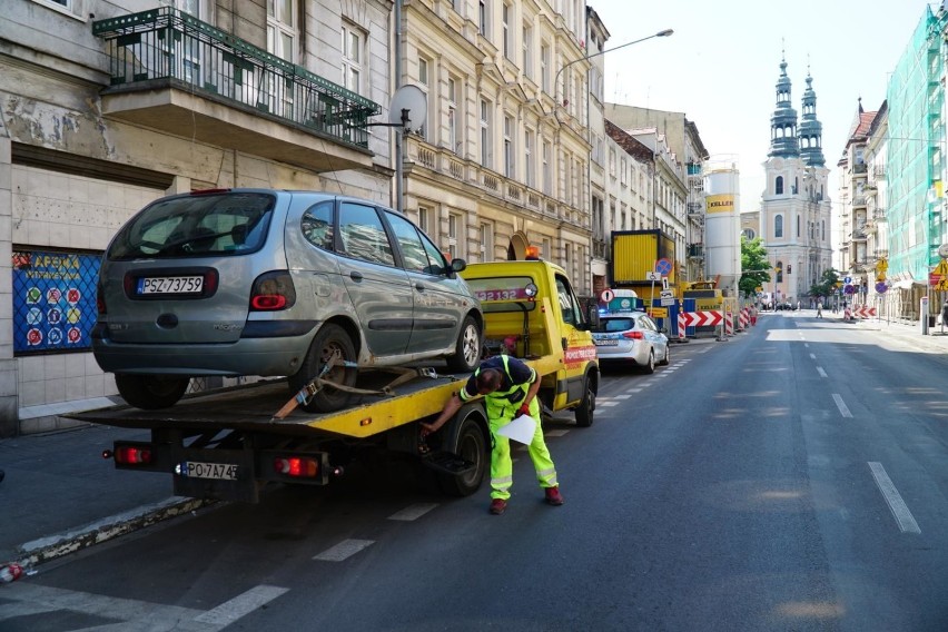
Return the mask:
[[(315, 377), (444, 357), (473, 371), (481, 304), (404, 215), (315, 191), (214, 189), (161, 198), (102, 257), (92, 350), (140, 408), (175, 404), (197, 376)], [(327, 368), (328, 365), (328, 368)], [(289, 395), (288, 395), (289, 397)], [(344, 407), (325, 386), (303, 407)]]

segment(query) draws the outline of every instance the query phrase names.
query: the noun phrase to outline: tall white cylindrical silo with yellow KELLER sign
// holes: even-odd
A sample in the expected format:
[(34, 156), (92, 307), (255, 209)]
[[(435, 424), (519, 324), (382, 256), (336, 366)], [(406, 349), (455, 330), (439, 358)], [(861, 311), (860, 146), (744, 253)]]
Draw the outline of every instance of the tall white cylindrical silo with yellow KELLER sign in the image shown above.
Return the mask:
[(704, 265), (724, 296), (738, 296), (741, 277), (741, 196), (738, 157), (711, 156), (704, 162)]

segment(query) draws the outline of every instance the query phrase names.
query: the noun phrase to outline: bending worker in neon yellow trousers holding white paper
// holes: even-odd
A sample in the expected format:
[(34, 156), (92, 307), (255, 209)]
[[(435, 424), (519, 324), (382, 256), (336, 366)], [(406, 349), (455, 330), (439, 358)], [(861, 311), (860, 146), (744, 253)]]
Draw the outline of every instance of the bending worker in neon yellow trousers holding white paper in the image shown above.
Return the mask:
[(543, 441), (540, 423), (540, 376), (523, 361), (501, 354), (481, 363), (461, 389), (452, 393), (441, 415), (422, 424), (422, 436), (436, 432), (461, 409), (461, 406), (477, 397), (484, 397), (487, 425), (491, 431), (491, 506), (494, 515), (504, 513), (513, 486), (513, 462), (510, 438), (497, 431), (520, 415), (536, 419), (536, 429), (527, 446), (527, 454), (536, 471), (536, 480), (543, 488), (544, 500), (554, 506), (563, 504), (556, 468)]

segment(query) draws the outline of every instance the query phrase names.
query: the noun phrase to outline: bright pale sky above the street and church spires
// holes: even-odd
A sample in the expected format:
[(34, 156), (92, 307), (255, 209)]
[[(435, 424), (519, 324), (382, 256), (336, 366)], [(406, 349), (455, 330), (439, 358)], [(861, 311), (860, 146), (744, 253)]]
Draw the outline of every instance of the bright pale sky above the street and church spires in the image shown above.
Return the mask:
[[(684, 112), (712, 154), (738, 155), (741, 210), (759, 208), (761, 164), (770, 144), (774, 85), (786, 53), (793, 108), (802, 110), (807, 67), (823, 126), (830, 197), (858, 99), (877, 110), (925, 7), (921, 0), (587, 0), (614, 48), (606, 53), (605, 100)], [(932, 11), (938, 4), (930, 4)], [(781, 52), (783, 51), (783, 52)]]

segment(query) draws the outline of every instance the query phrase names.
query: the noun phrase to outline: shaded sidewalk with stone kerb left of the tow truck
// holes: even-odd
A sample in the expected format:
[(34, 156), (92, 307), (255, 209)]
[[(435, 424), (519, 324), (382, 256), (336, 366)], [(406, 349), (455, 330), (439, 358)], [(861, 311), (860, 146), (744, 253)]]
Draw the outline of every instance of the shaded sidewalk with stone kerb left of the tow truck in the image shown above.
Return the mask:
[(149, 437), (90, 425), (0, 441), (0, 565), (29, 570), (206, 504), (172, 496), (167, 474), (117, 471), (102, 458), (117, 438)]

